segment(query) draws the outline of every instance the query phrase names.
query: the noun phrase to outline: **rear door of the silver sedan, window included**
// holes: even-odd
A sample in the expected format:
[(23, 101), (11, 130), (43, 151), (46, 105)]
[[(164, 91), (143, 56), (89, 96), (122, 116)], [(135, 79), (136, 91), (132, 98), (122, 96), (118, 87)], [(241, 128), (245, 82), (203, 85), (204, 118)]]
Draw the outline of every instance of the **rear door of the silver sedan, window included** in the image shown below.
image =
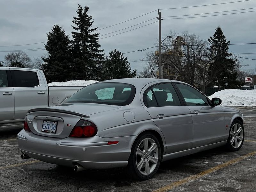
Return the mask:
[(166, 154), (190, 149), (193, 142), (192, 117), (188, 107), (181, 105), (172, 83), (149, 87), (143, 100), (149, 115), (164, 134)]

